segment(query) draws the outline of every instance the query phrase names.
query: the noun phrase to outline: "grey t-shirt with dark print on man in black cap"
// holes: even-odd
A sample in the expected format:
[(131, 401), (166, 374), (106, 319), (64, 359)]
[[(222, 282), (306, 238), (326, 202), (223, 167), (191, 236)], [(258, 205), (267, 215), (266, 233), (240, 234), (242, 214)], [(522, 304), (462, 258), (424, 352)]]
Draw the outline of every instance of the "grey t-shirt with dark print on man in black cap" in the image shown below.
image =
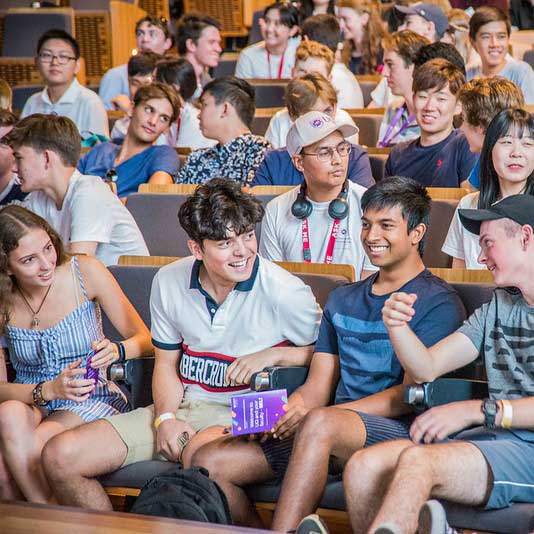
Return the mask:
[(534, 306), (521, 293), (498, 288), (458, 329), (484, 357), (494, 399), (534, 395)]

